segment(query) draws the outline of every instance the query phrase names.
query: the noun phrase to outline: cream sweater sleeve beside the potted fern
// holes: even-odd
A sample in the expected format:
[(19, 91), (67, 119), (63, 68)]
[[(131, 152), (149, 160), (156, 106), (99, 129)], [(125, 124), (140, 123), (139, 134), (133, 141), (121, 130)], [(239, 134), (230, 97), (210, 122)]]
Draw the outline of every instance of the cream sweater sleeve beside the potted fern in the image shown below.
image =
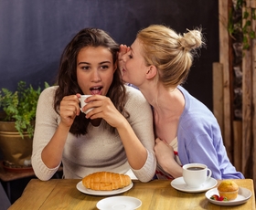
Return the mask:
[[(49, 169), (41, 158), (41, 153), (58, 127), (58, 113), (54, 110), (53, 99), (56, 87), (44, 89), (37, 102), (36, 128), (33, 139), (31, 162), (38, 179), (49, 180), (58, 167)], [(60, 165), (60, 163), (59, 163)]]

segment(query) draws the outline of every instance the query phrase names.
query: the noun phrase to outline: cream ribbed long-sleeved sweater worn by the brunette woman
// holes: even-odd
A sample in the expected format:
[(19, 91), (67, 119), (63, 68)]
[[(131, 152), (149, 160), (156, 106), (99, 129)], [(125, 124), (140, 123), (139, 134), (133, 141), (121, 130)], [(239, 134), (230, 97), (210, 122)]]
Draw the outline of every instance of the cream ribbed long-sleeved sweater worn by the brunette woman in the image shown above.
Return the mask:
[[(132, 170), (140, 181), (148, 182), (155, 174), (156, 165), (152, 110), (139, 90), (125, 87), (128, 94), (125, 109), (130, 113), (128, 121), (148, 153), (144, 167)], [(50, 179), (59, 168), (49, 169), (41, 159), (41, 152), (55, 133), (60, 121), (53, 107), (56, 89), (57, 87), (45, 89), (37, 104), (32, 165), (37, 178), (41, 180)], [(69, 133), (62, 156), (65, 178), (80, 179), (97, 171), (127, 173), (131, 169), (118, 133), (112, 134), (104, 129), (104, 123), (106, 121), (101, 121), (99, 127), (90, 125), (88, 133), (80, 137)]]

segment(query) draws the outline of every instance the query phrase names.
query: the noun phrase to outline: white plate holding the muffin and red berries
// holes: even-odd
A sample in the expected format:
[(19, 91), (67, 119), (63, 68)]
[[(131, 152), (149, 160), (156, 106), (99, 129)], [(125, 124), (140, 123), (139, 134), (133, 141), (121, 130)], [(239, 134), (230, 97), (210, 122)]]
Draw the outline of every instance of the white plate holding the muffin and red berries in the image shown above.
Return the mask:
[(243, 188), (243, 187), (240, 187), (239, 188), (239, 193), (238, 193), (238, 196), (236, 199), (234, 200), (231, 200), (231, 201), (215, 201), (215, 200), (212, 200), (210, 199), (210, 196), (213, 195), (213, 194), (218, 194), (219, 195), (219, 192), (218, 192), (218, 189), (217, 188), (213, 188), (211, 190), (208, 190), (208, 192), (206, 193), (206, 197), (208, 199), (208, 201), (214, 205), (241, 205), (241, 204), (244, 204), (245, 202), (247, 202), (247, 200), (249, 198), (251, 198), (251, 191), (246, 189), (246, 188)]

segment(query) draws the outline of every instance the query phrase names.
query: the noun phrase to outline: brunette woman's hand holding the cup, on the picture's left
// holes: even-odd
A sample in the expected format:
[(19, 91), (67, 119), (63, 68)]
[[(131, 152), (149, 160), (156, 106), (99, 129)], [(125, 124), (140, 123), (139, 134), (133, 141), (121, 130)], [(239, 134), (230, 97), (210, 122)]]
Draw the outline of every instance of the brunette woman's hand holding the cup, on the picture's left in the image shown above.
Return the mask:
[(67, 127), (71, 127), (76, 116), (80, 114), (80, 94), (65, 96), (59, 105), (59, 115), (61, 122)]

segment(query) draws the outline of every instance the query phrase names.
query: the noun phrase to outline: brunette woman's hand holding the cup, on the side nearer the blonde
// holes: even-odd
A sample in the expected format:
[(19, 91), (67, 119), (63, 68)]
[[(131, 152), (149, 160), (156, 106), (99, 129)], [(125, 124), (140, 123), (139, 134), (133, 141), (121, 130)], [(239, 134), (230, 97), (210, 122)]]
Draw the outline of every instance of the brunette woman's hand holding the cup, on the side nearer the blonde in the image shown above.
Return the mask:
[(93, 108), (93, 110), (86, 114), (86, 118), (91, 120), (102, 118), (117, 129), (121, 126), (122, 121), (125, 120), (123, 115), (113, 105), (112, 100), (106, 96), (92, 95), (85, 102), (88, 104), (82, 110)]

